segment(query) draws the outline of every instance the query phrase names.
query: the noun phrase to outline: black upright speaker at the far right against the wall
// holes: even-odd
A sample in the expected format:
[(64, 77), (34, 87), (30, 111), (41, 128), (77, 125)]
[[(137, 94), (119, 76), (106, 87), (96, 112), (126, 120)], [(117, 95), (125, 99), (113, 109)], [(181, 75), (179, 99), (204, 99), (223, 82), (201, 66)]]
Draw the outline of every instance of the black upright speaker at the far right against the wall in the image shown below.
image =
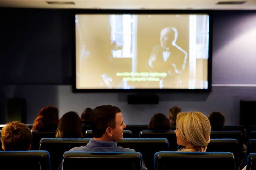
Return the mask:
[(256, 125), (256, 101), (240, 100), (239, 123), (245, 128)]

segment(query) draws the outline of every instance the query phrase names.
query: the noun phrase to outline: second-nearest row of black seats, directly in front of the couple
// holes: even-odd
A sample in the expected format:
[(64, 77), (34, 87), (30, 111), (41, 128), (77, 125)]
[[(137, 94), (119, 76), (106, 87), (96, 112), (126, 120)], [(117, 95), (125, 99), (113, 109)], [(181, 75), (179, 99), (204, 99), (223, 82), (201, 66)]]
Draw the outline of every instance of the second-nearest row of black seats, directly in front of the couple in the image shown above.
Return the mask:
[[(62, 155), (73, 147), (85, 146), (90, 138), (81, 139), (56, 139), (43, 138), (40, 142), (40, 150), (47, 150), (51, 155), (52, 168), (57, 169), (62, 161)], [(154, 154), (159, 151), (168, 151), (168, 140), (165, 138), (130, 138), (117, 141), (117, 145), (125, 148), (132, 148), (140, 152), (148, 169), (153, 169)], [(177, 150), (177, 149), (176, 149)], [(211, 139), (207, 152), (231, 152), (234, 154), (236, 165), (239, 160), (239, 145), (235, 139)]]

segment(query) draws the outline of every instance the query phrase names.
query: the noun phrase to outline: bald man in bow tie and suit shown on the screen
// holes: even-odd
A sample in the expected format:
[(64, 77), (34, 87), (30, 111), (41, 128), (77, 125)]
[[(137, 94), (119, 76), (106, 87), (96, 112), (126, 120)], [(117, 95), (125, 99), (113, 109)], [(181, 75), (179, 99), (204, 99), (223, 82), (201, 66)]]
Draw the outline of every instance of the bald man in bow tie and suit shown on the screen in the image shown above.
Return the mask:
[(160, 45), (153, 47), (148, 60), (151, 72), (166, 72), (167, 77), (161, 77), (159, 88), (178, 88), (181, 74), (185, 69), (187, 52), (176, 44), (178, 30), (166, 27), (160, 32)]

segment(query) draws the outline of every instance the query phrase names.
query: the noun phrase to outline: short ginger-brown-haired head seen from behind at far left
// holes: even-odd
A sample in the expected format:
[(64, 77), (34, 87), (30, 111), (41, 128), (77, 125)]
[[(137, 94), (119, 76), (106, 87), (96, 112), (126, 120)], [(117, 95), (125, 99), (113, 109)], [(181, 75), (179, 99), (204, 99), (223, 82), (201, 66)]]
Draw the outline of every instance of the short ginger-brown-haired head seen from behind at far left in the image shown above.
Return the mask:
[(1, 142), (6, 151), (26, 151), (32, 142), (32, 132), (27, 125), (12, 121), (2, 128)]

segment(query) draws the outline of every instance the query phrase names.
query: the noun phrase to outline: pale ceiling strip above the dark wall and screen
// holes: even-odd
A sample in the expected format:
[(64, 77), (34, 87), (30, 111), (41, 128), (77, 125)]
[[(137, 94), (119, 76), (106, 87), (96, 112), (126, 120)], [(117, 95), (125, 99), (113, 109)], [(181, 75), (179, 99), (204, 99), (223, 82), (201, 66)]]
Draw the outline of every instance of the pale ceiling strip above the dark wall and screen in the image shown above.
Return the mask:
[[(48, 4), (74, 2), (74, 4)], [(48, 9), (178, 9), (256, 10), (256, 0), (244, 4), (216, 5), (221, 0), (0, 0), (0, 7)], [(230, 2), (230, 0), (224, 0)], [(236, 2), (238, 0), (235, 0)], [(233, 1), (232, 1), (233, 2)]]

